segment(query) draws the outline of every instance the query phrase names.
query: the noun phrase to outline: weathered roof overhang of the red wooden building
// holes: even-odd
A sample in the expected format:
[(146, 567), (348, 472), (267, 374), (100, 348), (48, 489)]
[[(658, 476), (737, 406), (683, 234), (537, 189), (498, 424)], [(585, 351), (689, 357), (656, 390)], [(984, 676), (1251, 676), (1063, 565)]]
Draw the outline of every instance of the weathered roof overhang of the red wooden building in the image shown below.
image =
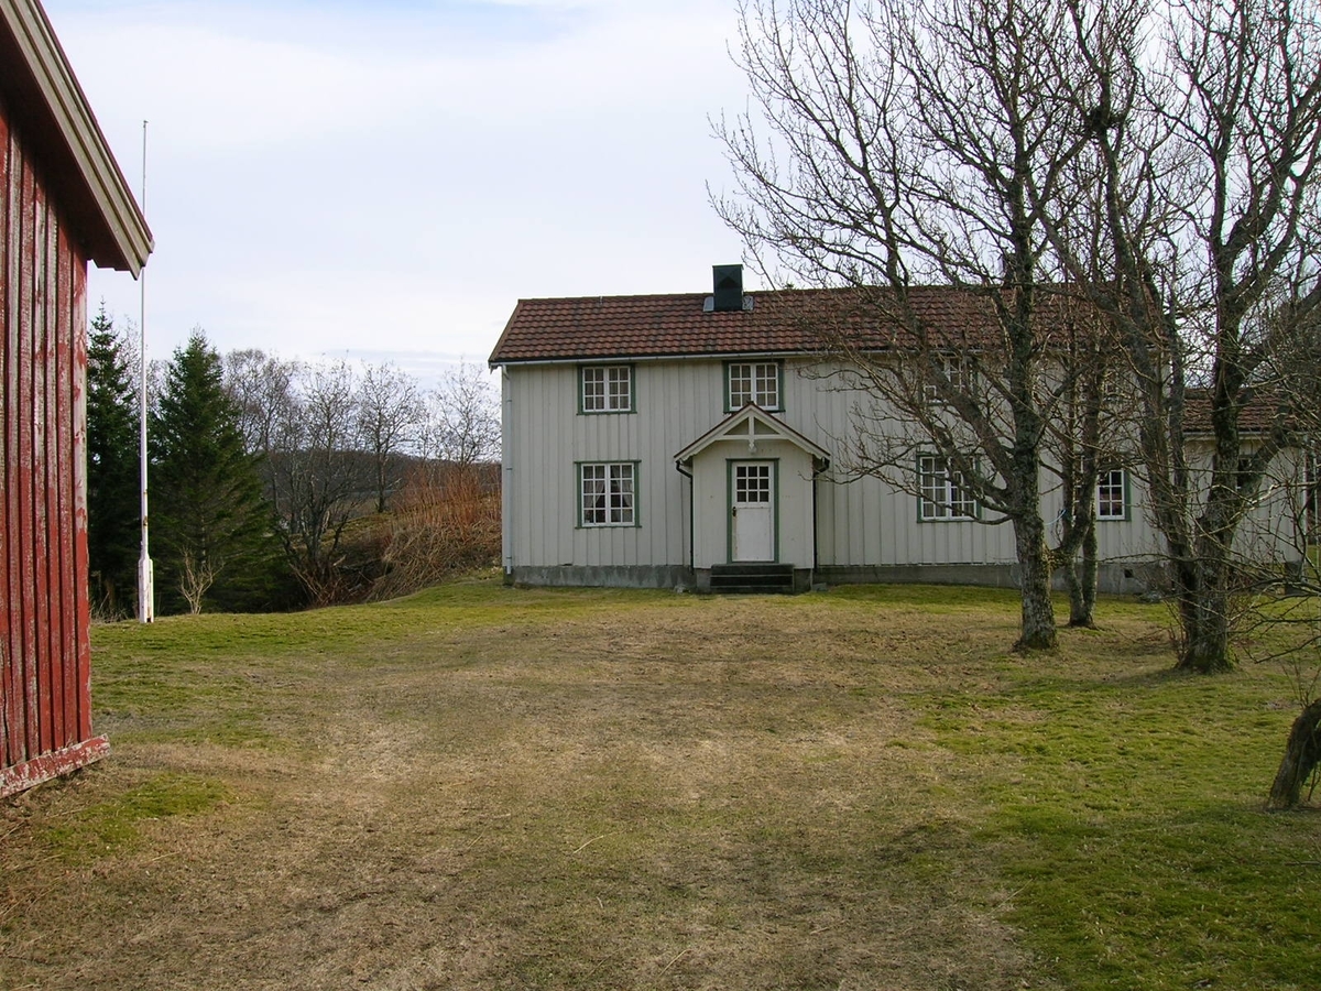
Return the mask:
[(136, 277), (152, 234), (37, 0), (0, 0), (0, 91), (90, 260)]

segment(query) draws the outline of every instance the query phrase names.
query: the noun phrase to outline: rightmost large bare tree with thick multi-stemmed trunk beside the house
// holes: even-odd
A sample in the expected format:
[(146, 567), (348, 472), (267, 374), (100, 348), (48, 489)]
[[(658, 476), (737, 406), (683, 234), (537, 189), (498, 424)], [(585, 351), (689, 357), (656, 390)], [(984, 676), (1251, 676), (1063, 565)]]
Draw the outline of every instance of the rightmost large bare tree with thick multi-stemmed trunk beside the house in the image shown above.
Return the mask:
[(1316, 404), (1272, 357), (1321, 303), (1321, 25), (1292, 0), (1069, 7), (1102, 222), (1095, 242), (1057, 222), (1052, 247), (1125, 340), (1180, 666), (1218, 671), (1240, 523)]

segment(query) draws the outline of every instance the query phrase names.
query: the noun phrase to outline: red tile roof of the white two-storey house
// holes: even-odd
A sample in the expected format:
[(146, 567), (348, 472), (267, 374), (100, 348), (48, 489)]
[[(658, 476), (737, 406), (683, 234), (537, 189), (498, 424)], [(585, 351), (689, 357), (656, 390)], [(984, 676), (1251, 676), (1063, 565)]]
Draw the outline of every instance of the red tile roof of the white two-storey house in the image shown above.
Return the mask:
[[(709, 293), (583, 296), (519, 300), (491, 365), (602, 358), (793, 354), (822, 350), (824, 328), (848, 328), (853, 345), (894, 346), (905, 336), (881, 320), (881, 297), (856, 289), (750, 292), (752, 309), (707, 313)], [(910, 291), (922, 322), (950, 346), (999, 346), (1000, 328), (984, 296), (955, 288)]]

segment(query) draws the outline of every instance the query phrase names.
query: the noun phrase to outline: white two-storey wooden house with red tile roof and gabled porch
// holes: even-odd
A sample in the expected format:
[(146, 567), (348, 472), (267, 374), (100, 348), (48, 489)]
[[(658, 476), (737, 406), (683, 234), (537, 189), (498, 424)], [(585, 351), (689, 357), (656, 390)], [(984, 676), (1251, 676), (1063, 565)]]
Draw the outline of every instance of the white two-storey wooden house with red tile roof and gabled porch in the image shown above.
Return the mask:
[[(988, 320), (966, 293), (923, 293), (926, 318)], [(745, 296), (725, 266), (713, 293), (519, 301), (490, 357), (502, 371), (506, 576), (1013, 585), (1012, 529), (982, 518), (941, 459), (918, 456), (906, 488), (838, 470), (860, 396), (823, 375), (803, 318), (830, 296)], [(1096, 498), (1100, 587), (1143, 591), (1160, 543), (1141, 486), (1116, 469)], [(1058, 493), (1044, 501), (1054, 518)]]

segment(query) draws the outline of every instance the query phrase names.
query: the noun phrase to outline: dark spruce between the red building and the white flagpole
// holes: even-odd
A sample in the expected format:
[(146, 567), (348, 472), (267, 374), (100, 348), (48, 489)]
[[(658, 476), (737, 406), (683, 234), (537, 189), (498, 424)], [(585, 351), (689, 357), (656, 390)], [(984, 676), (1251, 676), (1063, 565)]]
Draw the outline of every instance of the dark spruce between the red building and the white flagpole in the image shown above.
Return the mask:
[(87, 556), (92, 608), (132, 610), (141, 544), (132, 349), (104, 305), (87, 338)]

